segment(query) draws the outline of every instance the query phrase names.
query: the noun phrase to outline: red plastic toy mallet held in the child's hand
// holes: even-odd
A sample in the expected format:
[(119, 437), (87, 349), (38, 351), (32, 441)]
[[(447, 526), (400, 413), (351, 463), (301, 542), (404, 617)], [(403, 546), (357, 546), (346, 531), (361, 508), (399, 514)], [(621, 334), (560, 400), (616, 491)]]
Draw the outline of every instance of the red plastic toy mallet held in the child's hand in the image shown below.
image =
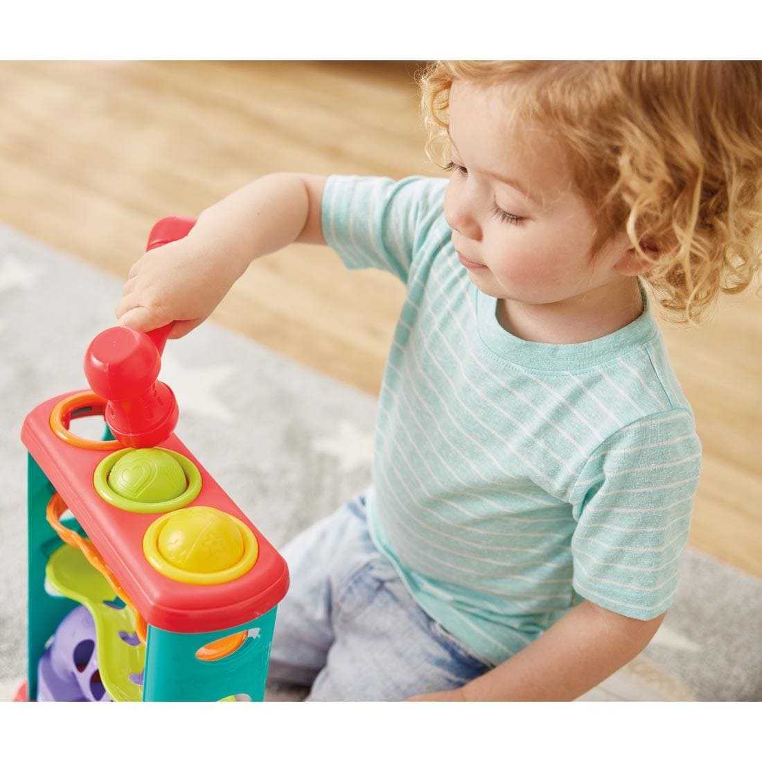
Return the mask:
[[(184, 217), (160, 220), (151, 230), (146, 250), (184, 238), (193, 226), (194, 220)], [(107, 400), (106, 422), (127, 447), (155, 447), (178, 422), (174, 394), (157, 380), (172, 325), (148, 333), (122, 325), (107, 328), (85, 353), (88, 383)]]

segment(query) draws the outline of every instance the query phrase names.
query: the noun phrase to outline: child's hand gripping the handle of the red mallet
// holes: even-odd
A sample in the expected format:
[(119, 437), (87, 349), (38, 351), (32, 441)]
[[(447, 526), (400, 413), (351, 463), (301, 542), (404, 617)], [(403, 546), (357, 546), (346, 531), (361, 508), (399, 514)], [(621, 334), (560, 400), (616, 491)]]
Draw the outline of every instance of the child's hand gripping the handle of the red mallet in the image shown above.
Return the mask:
[(209, 317), (241, 274), (232, 258), (191, 231), (133, 264), (114, 314), (119, 325), (139, 331), (176, 321), (169, 336), (179, 338)]

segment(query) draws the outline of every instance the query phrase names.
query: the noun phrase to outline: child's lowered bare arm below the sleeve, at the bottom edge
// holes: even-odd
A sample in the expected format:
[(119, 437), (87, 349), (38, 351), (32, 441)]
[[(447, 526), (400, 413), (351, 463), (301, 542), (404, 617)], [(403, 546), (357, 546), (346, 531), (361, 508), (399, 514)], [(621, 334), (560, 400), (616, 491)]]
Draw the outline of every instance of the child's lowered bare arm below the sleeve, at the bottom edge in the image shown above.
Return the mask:
[[(666, 612), (665, 612), (666, 613)], [(588, 601), (495, 669), (414, 701), (570, 701), (632, 661), (664, 619), (641, 621)]]

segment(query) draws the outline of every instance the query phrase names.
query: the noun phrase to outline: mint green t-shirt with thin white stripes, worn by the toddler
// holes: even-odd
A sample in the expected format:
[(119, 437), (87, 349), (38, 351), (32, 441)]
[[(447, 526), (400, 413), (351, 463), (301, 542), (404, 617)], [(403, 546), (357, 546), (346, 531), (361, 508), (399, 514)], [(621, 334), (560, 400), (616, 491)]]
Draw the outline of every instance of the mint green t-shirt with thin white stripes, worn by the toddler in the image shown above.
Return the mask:
[(674, 598), (701, 445), (645, 310), (581, 344), (511, 335), (443, 216), (447, 181), (331, 176), (325, 239), (407, 293), (383, 377), (373, 543), (411, 595), (499, 664), (587, 599), (639, 620)]

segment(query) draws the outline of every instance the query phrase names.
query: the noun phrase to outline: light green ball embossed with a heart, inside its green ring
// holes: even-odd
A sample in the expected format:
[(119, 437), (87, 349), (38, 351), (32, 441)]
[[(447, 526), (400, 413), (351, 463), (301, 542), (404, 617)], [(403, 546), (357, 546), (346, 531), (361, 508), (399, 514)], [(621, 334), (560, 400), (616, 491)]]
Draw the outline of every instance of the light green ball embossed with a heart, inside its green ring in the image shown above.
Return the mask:
[(133, 450), (114, 463), (108, 485), (117, 495), (139, 503), (163, 503), (187, 488), (182, 466), (166, 450)]

